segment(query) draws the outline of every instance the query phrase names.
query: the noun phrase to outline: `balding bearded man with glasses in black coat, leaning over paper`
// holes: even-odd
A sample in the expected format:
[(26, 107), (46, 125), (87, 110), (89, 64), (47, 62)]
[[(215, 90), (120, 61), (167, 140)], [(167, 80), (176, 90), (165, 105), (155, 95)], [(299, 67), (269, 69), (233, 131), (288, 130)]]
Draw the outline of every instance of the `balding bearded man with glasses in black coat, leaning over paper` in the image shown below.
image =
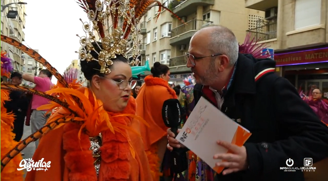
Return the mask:
[[(195, 33), (187, 67), (194, 73), (194, 98), (208, 99), (217, 109), (247, 128), (252, 136), (243, 146), (223, 142), (231, 153), (215, 154), (225, 167), (219, 181), (301, 181), (304, 158), (328, 157), (328, 128), (300, 98), (294, 86), (278, 76), (275, 61), (238, 53), (234, 33), (219, 25)], [(182, 148), (168, 130), (168, 148)], [(215, 143), (213, 143), (215, 144)], [(201, 146), (201, 145), (198, 145)], [(203, 148), (207, 149), (207, 148)], [(225, 160), (226, 162), (221, 162)]]

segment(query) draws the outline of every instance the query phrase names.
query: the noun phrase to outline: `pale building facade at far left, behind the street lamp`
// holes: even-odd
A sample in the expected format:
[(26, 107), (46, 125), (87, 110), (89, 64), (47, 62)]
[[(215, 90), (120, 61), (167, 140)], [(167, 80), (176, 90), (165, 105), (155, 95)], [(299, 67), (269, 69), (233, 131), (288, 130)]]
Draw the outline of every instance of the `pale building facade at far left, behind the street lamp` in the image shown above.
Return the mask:
[[(22, 0), (1, 0), (1, 6), (10, 3), (24, 2)], [(15, 18), (9, 18), (10, 14), (17, 12)], [(7, 17), (8, 16), (8, 17)], [(22, 43), (25, 41), (25, 16), (26, 16), (26, 5), (12, 4), (3, 12), (1, 12), (1, 34), (15, 39)], [(22, 59), (22, 51), (18, 48), (1, 42), (1, 50), (6, 51), (9, 57), (13, 60), (14, 71), (23, 72), (24, 61)]]

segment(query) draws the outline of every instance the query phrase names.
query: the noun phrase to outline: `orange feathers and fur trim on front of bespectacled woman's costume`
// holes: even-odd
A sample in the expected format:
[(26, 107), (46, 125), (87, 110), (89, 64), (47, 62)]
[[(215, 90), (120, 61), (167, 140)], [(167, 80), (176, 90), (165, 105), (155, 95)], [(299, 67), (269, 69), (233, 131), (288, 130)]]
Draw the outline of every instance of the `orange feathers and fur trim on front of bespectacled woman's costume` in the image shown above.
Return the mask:
[[(111, 113), (104, 110), (101, 106), (102, 102), (97, 100), (88, 88), (78, 90), (56, 88), (47, 91), (47, 93), (63, 94), (65, 100), (72, 100), (70, 96), (74, 95), (83, 102), (84, 111), (73, 102), (68, 101), (70, 109), (80, 114), (79, 117), (74, 117), (69, 110), (60, 109), (57, 111), (58, 114), (52, 115), (48, 120), (48, 123), (50, 123), (61, 115), (67, 115), (65, 119), (83, 120), (82, 125), (76, 123), (61, 124), (64, 125), (63, 145), (66, 151), (64, 160), (70, 171), (69, 179), (73, 181), (128, 180), (131, 172), (130, 159), (135, 158), (135, 151), (127, 133), (127, 131), (135, 131), (129, 125), (134, 118), (148, 125), (145, 120), (135, 115), (135, 99), (130, 97), (124, 111)], [(58, 105), (51, 102), (49, 105), (42, 107), (44, 108), (38, 109), (49, 109), (58, 107)], [(89, 137), (97, 136), (99, 133), (102, 135), (103, 145), (100, 147), (101, 163), (97, 177), (93, 165), (92, 151), (89, 150)]]

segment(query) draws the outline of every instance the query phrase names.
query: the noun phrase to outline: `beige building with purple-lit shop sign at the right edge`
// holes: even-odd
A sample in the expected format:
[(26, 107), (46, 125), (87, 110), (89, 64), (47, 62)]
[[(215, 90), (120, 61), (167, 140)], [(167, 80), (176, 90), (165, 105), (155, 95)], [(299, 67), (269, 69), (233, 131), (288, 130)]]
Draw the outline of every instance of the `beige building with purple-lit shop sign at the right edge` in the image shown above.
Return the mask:
[[(274, 49), (276, 71), (296, 88), (328, 98), (327, 0), (245, 0), (268, 23), (249, 30)], [(311, 92), (310, 92), (311, 93)]]

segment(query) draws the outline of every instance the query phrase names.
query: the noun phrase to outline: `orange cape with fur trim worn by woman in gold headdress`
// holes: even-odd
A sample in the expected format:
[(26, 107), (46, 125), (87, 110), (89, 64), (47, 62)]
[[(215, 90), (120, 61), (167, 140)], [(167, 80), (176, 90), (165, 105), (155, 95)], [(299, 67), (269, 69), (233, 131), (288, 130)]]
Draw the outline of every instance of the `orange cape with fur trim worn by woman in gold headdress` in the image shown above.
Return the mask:
[[(129, 104), (126, 108), (131, 109), (131, 111), (126, 112), (135, 112), (136, 104), (133, 97), (130, 98)], [(62, 110), (58, 110), (60, 112)], [(53, 116), (55, 116), (55, 113)], [(32, 170), (27, 173), (26, 181), (105, 181), (105, 180), (131, 180), (131, 181), (152, 181), (152, 176), (150, 174), (150, 167), (148, 164), (147, 155), (142, 144), (142, 139), (140, 137), (139, 131), (139, 121), (132, 119), (131, 122), (127, 125), (130, 127), (127, 130), (127, 133), (130, 138), (131, 146), (135, 151), (135, 157), (133, 158), (130, 154), (125, 154), (126, 147), (120, 145), (106, 145), (105, 142), (108, 139), (116, 137), (117, 140), (124, 140), (120, 134), (116, 133), (115, 135), (111, 134), (109, 130), (101, 132), (103, 134), (103, 146), (106, 147), (101, 149), (101, 163), (99, 176), (95, 176), (95, 169), (93, 167), (93, 158), (92, 151), (89, 150), (90, 142), (89, 136), (87, 134), (81, 134), (80, 143), (78, 141), (78, 131), (80, 125), (76, 123), (66, 123), (64, 126), (50, 131), (45, 136), (40, 139), (38, 148), (35, 150), (33, 160), (35, 162), (44, 159), (44, 162), (51, 162), (50, 168), (47, 171), (36, 171)], [(106, 140), (107, 139), (107, 140)], [(87, 141), (83, 141), (87, 140)], [(69, 147), (71, 150), (75, 149), (76, 151), (68, 152)], [(85, 153), (81, 152), (81, 149), (89, 150), (91, 157), (85, 156)], [(121, 150), (121, 151), (119, 151)], [(111, 154), (112, 152), (117, 152), (118, 154)], [(109, 154), (108, 154), (109, 153)], [(103, 157), (103, 156), (107, 157)], [(126, 167), (120, 166), (119, 171), (112, 173), (114, 168), (117, 166), (113, 164), (125, 164), (123, 160), (127, 159), (129, 164), (126, 164)], [(111, 160), (118, 160), (118, 162), (110, 162)], [(119, 161), (120, 160), (120, 161)], [(126, 176), (125, 174), (129, 173)], [(72, 176), (74, 175), (74, 176)]]

